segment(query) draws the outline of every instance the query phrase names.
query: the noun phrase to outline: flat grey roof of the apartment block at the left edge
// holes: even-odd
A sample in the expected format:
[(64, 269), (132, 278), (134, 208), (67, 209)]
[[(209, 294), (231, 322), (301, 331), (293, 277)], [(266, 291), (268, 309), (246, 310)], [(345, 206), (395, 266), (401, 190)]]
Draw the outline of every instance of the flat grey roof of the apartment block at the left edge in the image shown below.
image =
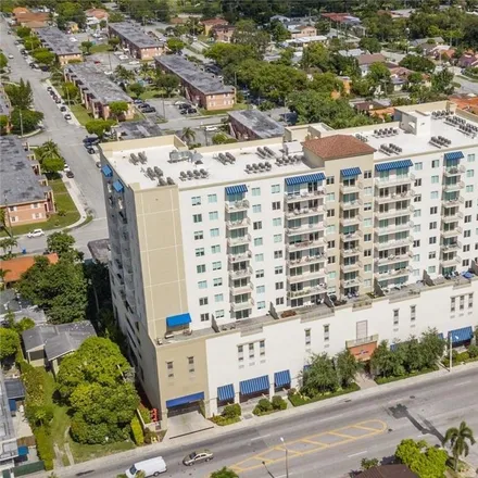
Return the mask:
[(0, 137), (0, 205), (43, 201), (46, 187), (33, 169), (22, 141), (14, 136)]

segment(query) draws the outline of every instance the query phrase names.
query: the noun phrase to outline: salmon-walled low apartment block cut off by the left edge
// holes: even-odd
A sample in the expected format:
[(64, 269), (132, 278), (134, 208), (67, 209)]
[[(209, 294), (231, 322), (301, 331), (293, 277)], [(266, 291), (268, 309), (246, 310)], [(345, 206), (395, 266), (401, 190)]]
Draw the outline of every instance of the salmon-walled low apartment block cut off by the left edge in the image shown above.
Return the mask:
[(42, 223), (55, 213), (53, 191), (32, 151), (13, 136), (0, 137), (0, 209), (8, 228)]

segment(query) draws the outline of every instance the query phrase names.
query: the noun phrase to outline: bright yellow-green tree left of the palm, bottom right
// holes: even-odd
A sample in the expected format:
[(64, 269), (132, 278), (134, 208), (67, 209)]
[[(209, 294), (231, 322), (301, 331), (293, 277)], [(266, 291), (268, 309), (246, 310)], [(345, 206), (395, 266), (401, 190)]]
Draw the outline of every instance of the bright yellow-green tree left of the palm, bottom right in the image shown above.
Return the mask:
[(442, 478), (446, 469), (446, 452), (429, 445), (425, 440), (402, 440), (395, 456), (420, 478)]

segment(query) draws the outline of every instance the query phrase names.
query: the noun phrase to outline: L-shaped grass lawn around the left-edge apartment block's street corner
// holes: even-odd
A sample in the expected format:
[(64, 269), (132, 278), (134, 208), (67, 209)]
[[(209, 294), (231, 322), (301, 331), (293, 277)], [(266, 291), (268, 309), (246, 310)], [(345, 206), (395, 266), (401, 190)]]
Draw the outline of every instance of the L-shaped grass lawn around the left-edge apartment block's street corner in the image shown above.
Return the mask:
[[(79, 219), (79, 212), (76, 209), (76, 205), (73, 202), (73, 199), (71, 198), (64, 183), (61, 179), (50, 179), (48, 184), (53, 189), (56, 211), (63, 211), (65, 214), (53, 214), (48, 221), (45, 221), (43, 223), (25, 224), (23, 226), (12, 227), (14, 236), (27, 234), (33, 229), (50, 230), (63, 228), (76, 223)], [(7, 232), (4, 230), (0, 232), (0, 237), (2, 236), (7, 236)]]

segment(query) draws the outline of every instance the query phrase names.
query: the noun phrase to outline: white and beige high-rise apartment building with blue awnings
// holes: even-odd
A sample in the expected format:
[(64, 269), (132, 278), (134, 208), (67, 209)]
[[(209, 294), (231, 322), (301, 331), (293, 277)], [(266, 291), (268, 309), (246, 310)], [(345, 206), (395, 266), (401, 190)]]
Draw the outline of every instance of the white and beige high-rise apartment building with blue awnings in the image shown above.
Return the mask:
[(101, 160), (114, 312), (164, 423), (297, 386), (311, 353), (478, 325), (478, 118), (451, 103)]

